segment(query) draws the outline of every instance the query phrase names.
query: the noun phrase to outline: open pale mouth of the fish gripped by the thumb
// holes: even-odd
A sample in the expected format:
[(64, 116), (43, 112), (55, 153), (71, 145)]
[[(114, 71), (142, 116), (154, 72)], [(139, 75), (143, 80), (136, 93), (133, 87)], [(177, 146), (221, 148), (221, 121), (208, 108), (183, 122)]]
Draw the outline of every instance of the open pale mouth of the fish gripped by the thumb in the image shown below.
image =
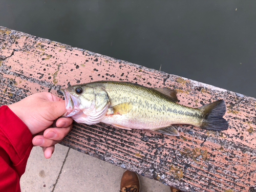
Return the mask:
[(78, 98), (71, 95), (67, 89), (60, 89), (61, 93), (63, 94), (65, 98), (65, 105), (67, 112), (62, 115), (62, 117), (71, 117), (76, 115), (80, 112), (80, 110), (77, 110), (77, 107), (79, 105)]

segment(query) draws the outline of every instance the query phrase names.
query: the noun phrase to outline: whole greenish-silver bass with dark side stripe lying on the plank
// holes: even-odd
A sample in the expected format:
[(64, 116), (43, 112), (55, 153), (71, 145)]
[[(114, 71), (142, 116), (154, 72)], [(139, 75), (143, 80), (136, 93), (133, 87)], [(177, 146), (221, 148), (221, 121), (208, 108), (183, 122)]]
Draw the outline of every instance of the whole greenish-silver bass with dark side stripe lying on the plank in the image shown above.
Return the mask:
[(191, 108), (177, 103), (177, 92), (168, 88), (148, 88), (124, 81), (95, 81), (60, 90), (67, 112), (77, 123), (103, 122), (120, 129), (151, 130), (179, 136), (173, 124), (190, 124), (204, 130), (223, 131), (223, 99)]

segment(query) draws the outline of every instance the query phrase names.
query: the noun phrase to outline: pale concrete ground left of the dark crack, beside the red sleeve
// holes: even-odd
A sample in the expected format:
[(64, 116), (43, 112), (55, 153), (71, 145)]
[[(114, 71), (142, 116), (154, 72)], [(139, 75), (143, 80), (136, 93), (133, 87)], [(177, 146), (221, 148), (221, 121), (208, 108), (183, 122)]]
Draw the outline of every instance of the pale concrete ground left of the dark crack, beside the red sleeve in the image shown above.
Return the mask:
[(68, 150), (68, 147), (57, 144), (53, 156), (46, 159), (41, 147), (33, 147), (25, 174), (20, 178), (21, 190), (23, 192), (53, 191)]

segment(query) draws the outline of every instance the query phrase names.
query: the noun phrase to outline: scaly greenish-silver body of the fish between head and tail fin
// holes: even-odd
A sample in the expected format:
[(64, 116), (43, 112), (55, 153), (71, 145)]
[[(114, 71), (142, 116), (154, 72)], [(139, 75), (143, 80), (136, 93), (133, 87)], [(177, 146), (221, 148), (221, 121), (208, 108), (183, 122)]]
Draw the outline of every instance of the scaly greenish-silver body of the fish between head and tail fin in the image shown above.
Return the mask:
[[(159, 129), (171, 124), (185, 123), (198, 126), (201, 123), (200, 117), (202, 115), (198, 109), (187, 108), (186, 106), (174, 103), (153, 89), (130, 83), (103, 82), (102, 84), (113, 105), (132, 102), (134, 106), (129, 114), (125, 114), (125, 119), (130, 119), (130, 124), (120, 122), (121, 119), (118, 115), (106, 117), (102, 122), (125, 125), (131, 129), (151, 130)], [(117, 86), (118, 88), (115, 89)], [(122, 95), (125, 95), (125, 97)], [(152, 105), (156, 107), (152, 108)], [(173, 111), (176, 111), (177, 113), (174, 113)], [(186, 112), (194, 115), (188, 116), (186, 115)]]

